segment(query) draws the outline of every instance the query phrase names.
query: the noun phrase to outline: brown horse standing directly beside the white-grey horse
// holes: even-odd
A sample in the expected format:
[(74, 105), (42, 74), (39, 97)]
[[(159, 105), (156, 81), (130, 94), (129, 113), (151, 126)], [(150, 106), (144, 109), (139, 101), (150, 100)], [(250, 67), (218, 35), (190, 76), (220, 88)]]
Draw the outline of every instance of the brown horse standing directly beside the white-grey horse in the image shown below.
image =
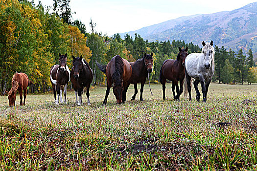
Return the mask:
[[(161, 71), (160, 71), (160, 82), (163, 85), (163, 99), (165, 100), (165, 84), (166, 79), (172, 81), (172, 92), (174, 100), (180, 100), (179, 97), (183, 92), (183, 82), (185, 78), (185, 59), (187, 57), (187, 50), (181, 49), (179, 47), (179, 53), (176, 60), (166, 60), (164, 61)], [(180, 90), (179, 90), (180, 82)], [(175, 94), (175, 86), (177, 90), (177, 95)]]

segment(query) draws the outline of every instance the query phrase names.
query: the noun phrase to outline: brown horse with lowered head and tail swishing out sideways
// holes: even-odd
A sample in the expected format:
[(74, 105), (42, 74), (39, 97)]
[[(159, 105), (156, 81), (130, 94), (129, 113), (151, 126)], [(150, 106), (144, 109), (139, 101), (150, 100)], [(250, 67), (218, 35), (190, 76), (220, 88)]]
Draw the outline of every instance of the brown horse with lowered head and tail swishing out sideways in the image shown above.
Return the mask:
[(114, 83), (114, 95), (117, 100), (117, 104), (124, 103), (122, 101), (122, 96), (124, 94), (124, 87), (129, 84), (129, 79), (132, 75), (132, 69), (129, 62), (122, 59), (120, 56), (116, 55), (111, 59), (107, 65), (101, 65), (96, 63), (99, 69), (105, 73), (107, 77), (107, 89), (105, 92), (105, 98), (103, 101), (103, 106), (106, 105), (108, 95), (110, 93), (110, 88)]

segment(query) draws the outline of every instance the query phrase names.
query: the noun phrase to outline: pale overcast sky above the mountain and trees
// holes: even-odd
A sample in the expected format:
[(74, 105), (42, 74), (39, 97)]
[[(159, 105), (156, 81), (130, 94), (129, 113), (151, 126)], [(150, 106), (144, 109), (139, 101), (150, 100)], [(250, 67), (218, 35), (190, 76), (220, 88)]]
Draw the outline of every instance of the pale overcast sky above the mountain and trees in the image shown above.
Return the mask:
[[(37, 0), (34, 0), (37, 4)], [(232, 11), (257, 0), (70, 0), (72, 20), (80, 20), (91, 32), (95, 30), (111, 36), (138, 30), (142, 27), (195, 14)], [(52, 6), (53, 0), (41, 0)]]

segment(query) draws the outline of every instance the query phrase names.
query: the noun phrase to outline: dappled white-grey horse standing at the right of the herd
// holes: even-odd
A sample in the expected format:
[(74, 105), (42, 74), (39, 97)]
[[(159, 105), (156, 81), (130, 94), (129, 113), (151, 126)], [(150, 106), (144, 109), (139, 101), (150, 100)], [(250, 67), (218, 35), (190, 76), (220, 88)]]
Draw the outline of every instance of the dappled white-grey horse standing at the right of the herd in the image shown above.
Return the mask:
[(191, 82), (192, 78), (195, 79), (193, 82), (194, 88), (196, 91), (196, 100), (200, 100), (200, 92), (197, 87), (199, 83), (201, 83), (202, 93), (203, 93), (203, 102), (207, 100), (207, 92), (208, 88), (214, 75), (214, 48), (213, 42), (205, 43), (202, 42), (203, 49), (202, 53), (191, 53), (187, 55), (185, 60), (185, 74), (186, 81), (185, 83), (185, 95), (189, 94), (189, 101), (191, 98)]

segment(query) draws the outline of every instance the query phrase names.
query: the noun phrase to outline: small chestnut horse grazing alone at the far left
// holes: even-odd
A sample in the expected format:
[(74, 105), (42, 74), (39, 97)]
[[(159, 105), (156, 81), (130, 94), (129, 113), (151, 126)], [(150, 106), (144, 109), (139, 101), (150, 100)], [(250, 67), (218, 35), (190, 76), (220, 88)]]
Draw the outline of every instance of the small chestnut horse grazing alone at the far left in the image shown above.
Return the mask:
[[(16, 100), (16, 92), (17, 90), (20, 93), (20, 106), (25, 105), (25, 100), (26, 100), (26, 96), (27, 96), (27, 86), (28, 83), (30, 81), (28, 80), (28, 76), (22, 72), (18, 73), (16, 72), (13, 75), (12, 78), (12, 88), (11, 90), (8, 92), (8, 100), (9, 100), (9, 106), (15, 106), (15, 100)], [(24, 94), (23, 94), (24, 91)], [(23, 102), (23, 96), (24, 96), (24, 102)]]

